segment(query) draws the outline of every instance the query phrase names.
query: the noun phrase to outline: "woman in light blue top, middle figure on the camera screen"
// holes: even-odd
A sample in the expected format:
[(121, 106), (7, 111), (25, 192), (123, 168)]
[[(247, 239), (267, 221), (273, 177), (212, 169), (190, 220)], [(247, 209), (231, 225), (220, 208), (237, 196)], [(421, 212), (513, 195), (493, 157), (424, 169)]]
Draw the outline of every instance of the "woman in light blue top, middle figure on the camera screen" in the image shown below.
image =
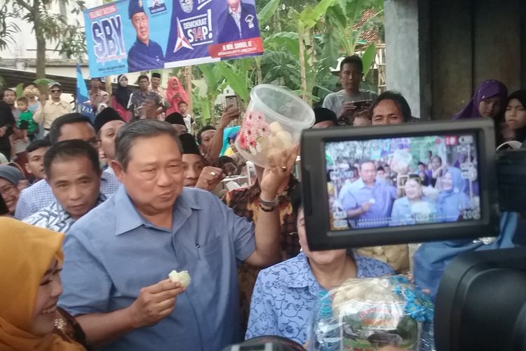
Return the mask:
[(421, 181), (416, 174), (407, 178), (404, 185), (405, 196), (394, 201), (389, 225), (414, 225), (435, 221), (436, 207), (422, 196)]

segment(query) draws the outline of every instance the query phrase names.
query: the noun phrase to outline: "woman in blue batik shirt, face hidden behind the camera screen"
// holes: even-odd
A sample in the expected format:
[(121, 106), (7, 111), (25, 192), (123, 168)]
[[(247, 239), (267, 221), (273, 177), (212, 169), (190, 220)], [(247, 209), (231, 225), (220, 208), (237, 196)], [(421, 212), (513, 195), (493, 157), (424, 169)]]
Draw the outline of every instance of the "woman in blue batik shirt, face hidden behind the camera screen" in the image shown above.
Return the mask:
[(292, 192), (302, 252), (259, 272), (252, 294), (246, 338), (274, 335), (306, 343), (309, 318), (319, 296), (351, 277), (393, 274), (389, 265), (352, 251), (310, 251), (299, 188)]

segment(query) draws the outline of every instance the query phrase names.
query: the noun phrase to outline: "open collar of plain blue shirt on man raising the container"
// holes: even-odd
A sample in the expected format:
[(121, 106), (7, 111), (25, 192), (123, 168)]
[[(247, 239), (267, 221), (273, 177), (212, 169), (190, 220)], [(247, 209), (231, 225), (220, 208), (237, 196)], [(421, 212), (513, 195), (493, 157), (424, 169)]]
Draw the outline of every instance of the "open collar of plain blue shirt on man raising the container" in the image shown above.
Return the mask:
[[(183, 187), (181, 194), (175, 200), (173, 206), (173, 232), (184, 223), (184, 220), (189, 218), (192, 209), (202, 209), (202, 207), (197, 204), (196, 199), (191, 197), (191, 194), (188, 192), (189, 190)], [(119, 216), (116, 216), (116, 235), (124, 234), (141, 225), (144, 225), (144, 227), (155, 227), (137, 211), (124, 185), (119, 187), (119, 190), (117, 190), (114, 195), (113, 201), (115, 204), (119, 204)]]

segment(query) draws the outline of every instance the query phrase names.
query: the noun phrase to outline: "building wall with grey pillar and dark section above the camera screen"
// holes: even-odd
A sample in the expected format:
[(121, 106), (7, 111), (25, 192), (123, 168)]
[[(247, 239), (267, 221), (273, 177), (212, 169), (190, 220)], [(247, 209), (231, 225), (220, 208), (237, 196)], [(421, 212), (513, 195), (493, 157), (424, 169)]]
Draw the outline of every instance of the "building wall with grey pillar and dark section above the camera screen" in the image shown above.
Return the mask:
[(385, 0), (387, 87), (450, 119), (486, 79), (526, 88), (525, 0)]

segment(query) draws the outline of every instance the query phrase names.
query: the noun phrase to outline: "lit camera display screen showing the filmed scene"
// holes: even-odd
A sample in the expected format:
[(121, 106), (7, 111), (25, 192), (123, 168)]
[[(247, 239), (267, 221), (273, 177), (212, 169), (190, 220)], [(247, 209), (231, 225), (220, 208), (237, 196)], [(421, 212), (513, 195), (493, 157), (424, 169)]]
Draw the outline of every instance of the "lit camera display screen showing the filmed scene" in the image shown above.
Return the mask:
[(475, 138), (325, 143), (331, 230), (480, 219)]

